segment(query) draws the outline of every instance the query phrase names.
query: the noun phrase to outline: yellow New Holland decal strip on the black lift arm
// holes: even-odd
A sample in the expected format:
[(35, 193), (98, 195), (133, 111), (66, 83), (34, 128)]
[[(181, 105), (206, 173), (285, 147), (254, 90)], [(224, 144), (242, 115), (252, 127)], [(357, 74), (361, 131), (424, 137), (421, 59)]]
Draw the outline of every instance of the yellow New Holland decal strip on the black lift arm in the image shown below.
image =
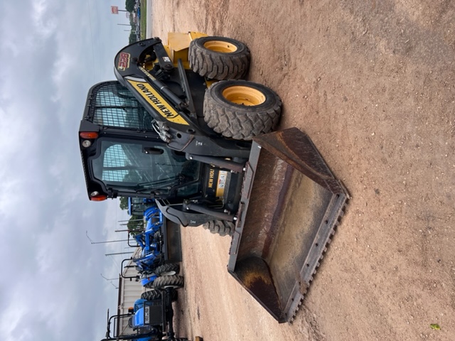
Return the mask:
[(161, 95), (154, 90), (149, 83), (146, 82), (136, 82), (134, 80), (128, 80), (128, 82), (134, 87), (134, 90), (139, 92), (144, 99), (158, 112), (162, 117), (167, 119), (170, 122), (177, 124), (184, 124), (188, 126), (188, 122), (183, 119), (181, 114), (178, 114), (173, 107), (171, 107), (166, 99), (161, 97)]

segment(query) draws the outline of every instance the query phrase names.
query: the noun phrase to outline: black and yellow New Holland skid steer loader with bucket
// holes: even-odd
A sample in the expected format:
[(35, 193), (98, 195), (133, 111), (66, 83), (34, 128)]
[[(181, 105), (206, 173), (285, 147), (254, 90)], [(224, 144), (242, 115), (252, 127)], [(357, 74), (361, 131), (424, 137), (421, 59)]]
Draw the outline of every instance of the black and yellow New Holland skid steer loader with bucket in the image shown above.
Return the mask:
[(153, 198), (183, 226), (232, 235), (228, 271), (279, 322), (291, 321), (348, 200), (309, 136), (273, 131), (282, 102), (242, 80), (237, 40), (169, 33), (114, 59), (79, 131), (87, 193)]

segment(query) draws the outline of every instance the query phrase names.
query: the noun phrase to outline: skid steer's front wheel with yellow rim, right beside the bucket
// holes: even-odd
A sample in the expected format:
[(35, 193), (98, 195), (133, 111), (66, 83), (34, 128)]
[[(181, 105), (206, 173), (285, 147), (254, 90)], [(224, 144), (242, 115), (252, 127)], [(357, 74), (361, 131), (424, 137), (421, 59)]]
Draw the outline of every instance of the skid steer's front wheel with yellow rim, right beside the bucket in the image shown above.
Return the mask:
[(225, 137), (251, 140), (274, 129), (282, 100), (264, 85), (245, 80), (216, 82), (205, 91), (204, 119)]

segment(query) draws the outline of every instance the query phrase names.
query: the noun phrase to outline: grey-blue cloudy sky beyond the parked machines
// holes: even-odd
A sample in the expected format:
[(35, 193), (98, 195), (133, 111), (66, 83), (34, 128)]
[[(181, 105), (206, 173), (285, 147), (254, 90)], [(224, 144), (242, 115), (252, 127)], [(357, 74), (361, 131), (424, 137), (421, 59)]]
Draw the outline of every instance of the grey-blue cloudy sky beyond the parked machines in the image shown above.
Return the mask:
[[(3, 1), (0, 29), (0, 335), (100, 340), (117, 290), (124, 214), (90, 202), (77, 146), (87, 90), (128, 43), (117, 0)], [(114, 281), (117, 284), (117, 281)]]

